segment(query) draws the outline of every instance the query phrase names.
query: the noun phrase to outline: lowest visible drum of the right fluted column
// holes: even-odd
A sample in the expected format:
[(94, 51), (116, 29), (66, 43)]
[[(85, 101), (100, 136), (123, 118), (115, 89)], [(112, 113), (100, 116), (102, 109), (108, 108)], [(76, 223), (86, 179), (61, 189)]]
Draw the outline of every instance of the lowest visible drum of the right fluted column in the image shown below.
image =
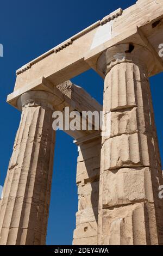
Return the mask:
[(137, 203), (100, 212), (101, 245), (158, 245), (154, 204)]

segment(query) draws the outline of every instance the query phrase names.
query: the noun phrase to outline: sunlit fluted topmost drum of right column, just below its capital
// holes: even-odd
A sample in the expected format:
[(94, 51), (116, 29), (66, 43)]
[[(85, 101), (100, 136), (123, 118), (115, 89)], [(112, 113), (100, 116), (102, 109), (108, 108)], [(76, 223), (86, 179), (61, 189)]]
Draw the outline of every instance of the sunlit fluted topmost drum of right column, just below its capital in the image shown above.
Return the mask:
[(114, 66), (110, 70), (109, 79), (107, 76), (105, 78), (103, 111), (136, 107), (134, 82), (133, 65), (122, 63)]

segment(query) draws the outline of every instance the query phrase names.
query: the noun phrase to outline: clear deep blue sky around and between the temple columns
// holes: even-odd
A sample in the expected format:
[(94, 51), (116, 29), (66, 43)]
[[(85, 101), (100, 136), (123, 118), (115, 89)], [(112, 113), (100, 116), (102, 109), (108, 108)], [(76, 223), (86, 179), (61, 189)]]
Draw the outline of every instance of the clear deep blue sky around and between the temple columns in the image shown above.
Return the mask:
[[(3, 185), (12, 153), (20, 113), (5, 103), (14, 89), (15, 71), (43, 52), (70, 38), (73, 34), (102, 19), (115, 9), (126, 9), (136, 0), (28, 0), (1, 1), (0, 44), (4, 57), (0, 58), (1, 109), (1, 167), (0, 185)], [(161, 157), (162, 137), (162, 84), (163, 74), (151, 78), (151, 89), (158, 130)], [(102, 103), (103, 81), (92, 70), (73, 78), (95, 99)], [(51, 209), (48, 222), (48, 245), (71, 245), (77, 211), (76, 187), (77, 147), (64, 132), (57, 132)]]

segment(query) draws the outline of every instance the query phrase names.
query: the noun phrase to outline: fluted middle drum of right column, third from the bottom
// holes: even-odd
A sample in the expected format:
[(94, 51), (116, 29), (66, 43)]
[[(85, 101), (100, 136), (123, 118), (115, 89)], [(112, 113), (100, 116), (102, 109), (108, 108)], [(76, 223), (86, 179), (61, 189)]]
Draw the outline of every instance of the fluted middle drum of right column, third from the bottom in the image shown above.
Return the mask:
[(149, 166), (147, 136), (139, 133), (106, 140), (102, 154), (104, 154), (104, 170), (128, 166)]

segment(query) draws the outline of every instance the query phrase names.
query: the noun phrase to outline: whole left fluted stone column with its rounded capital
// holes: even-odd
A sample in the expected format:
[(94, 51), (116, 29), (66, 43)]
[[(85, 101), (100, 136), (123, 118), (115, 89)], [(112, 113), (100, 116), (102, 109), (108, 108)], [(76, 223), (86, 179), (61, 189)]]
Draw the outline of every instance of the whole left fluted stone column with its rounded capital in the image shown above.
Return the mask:
[(51, 194), (54, 95), (31, 91), (22, 108), (0, 210), (0, 245), (43, 245)]

